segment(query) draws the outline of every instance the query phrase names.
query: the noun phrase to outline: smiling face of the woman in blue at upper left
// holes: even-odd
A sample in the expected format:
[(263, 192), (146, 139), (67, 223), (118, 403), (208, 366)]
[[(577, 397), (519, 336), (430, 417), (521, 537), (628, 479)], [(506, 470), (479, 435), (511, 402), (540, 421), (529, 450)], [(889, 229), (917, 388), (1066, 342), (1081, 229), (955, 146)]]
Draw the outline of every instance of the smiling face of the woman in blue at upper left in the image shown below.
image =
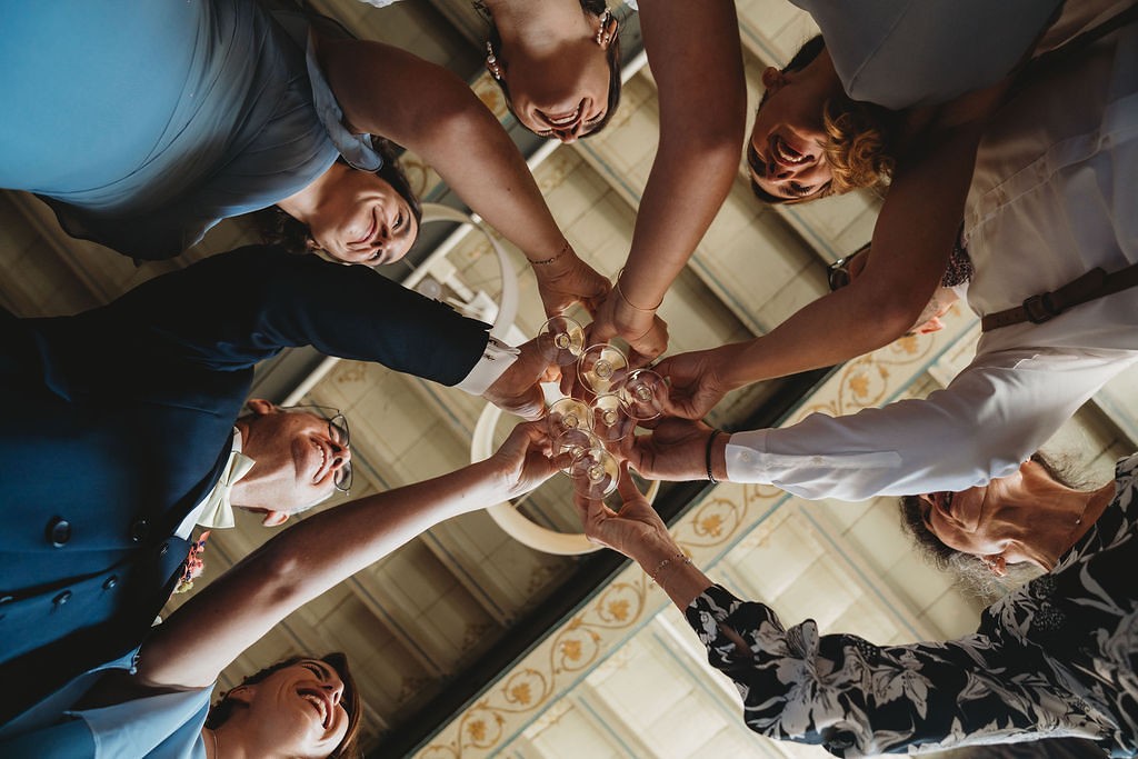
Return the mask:
[(303, 221), (316, 247), (368, 266), (399, 261), (419, 234), (411, 207), (395, 188), (341, 163), (329, 168), (321, 200)]

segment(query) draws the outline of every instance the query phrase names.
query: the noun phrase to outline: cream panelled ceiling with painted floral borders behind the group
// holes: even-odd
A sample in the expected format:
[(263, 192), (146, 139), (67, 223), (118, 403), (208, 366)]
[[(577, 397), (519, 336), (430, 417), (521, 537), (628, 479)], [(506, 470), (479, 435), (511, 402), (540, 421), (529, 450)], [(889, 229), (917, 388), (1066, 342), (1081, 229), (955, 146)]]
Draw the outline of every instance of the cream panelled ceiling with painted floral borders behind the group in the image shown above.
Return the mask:
[[(627, 255), (640, 192), (658, 138), (655, 88), (638, 56), (635, 15), (622, 40), (628, 63), (621, 106), (601, 134), (544, 145), (519, 130), (481, 74), (485, 24), (462, 0), (405, 0), (376, 9), (356, 0), (313, 3), (361, 38), (407, 48), (469, 79), (514, 134), (553, 214), (582, 257), (615, 275)], [(784, 0), (736, 3), (750, 89), (811, 35)], [(741, 157), (742, 158), (742, 157)], [(437, 175), (404, 156), (429, 201), (457, 206)], [(877, 204), (847, 196), (765, 208), (739, 180), (660, 315), (670, 353), (761, 335), (826, 290), (825, 265), (865, 242)], [(493, 233), (493, 232), (492, 232)], [(411, 256), (385, 275), (493, 319), (502, 275), (487, 238), (445, 223), (424, 228)], [(64, 236), (34, 198), (0, 197), (0, 305), (22, 315), (61, 314), (105, 303), (157, 273), (253, 241), (240, 222), (214, 230), (176, 262), (135, 269), (126, 258)], [(544, 321), (521, 255), (514, 336)], [(844, 329), (835, 325), (835, 330)], [(967, 363), (975, 331), (959, 308), (932, 338), (906, 338), (832, 373), (762, 382), (733, 393), (711, 421), (727, 429), (777, 424), (810, 411), (844, 413), (922, 396)], [(1103, 467), (1129, 452), (1138, 399), (1116, 382), (1063, 432)], [(343, 410), (352, 424), (353, 496), (389, 489), (470, 461), (484, 402), (382, 366), (324, 362), (294, 352), (262, 369), (256, 393)], [(500, 420), (501, 439), (511, 423)], [(322, 508), (332, 508), (325, 504)], [(811, 616), (832, 629), (881, 642), (958, 635), (978, 604), (917, 560), (899, 536), (894, 506), (806, 504), (775, 488), (678, 484), (661, 512), (710, 575), (742, 596), (770, 602), (786, 619)], [(533, 522), (579, 531), (569, 486), (555, 478), (517, 504)], [(215, 533), (205, 580), (272, 535), (253, 518)], [(199, 587), (205, 583), (199, 581)], [(175, 608), (178, 602), (172, 602)], [(294, 652), (346, 651), (365, 703), (370, 756), (782, 757), (820, 750), (775, 745), (739, 718), (729, 684), (707, 670), (695, 638), (637, 568), (611, 553), (553, 555), (522, 545), (488, 514), (451, 520), (312, 602), (246, 652), (222, 687)], [(696, 727), (698, 726), (698, 729)]]

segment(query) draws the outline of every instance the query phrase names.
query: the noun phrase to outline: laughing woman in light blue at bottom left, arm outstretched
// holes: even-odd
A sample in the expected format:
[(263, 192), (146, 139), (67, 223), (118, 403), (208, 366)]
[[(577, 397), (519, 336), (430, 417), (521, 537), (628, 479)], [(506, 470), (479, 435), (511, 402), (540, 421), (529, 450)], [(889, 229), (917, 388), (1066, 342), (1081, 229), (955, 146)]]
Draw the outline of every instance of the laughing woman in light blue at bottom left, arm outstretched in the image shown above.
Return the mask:
[(131, 654), (0, 726), (0, 756), (218, 759), (355, 756), (360, 698), (343, 655), (278, 662), (222, 696), (221, 671), (292, 611), (436, 523), (549, 479), (542, 422), (493, 456), (305, 519), (179, 608)]

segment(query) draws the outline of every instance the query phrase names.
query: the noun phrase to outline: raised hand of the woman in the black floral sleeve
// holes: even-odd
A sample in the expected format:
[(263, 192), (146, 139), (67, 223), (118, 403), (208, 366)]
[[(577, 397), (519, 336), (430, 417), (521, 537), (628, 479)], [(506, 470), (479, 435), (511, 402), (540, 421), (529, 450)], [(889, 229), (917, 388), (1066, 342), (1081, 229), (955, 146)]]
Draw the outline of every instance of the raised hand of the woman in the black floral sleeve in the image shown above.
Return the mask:
[(633, 560), (673, 544), (663, 520), (629, 477), (627, 463), (620, 464), (617, 492), (624, 502), (619, 512), (609, 509), (603, 501), (582, 495), (574, 497), (574, 505), (589, 541)]

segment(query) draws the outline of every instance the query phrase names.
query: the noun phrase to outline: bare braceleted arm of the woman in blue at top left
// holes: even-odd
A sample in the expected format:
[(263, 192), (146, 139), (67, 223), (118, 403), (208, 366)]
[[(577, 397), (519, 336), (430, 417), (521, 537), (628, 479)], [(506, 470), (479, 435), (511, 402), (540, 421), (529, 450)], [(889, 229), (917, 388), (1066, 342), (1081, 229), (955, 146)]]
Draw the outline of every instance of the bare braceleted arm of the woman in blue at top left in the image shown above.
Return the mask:
[(546, 313), (594, 305), (608, 281), (561, 233), (513, 141), (475, 93), (445, 68), (379, 42), (320, 40), (318, 55), (354, 129), (406, 146), (476, 213), (537, 264)]

